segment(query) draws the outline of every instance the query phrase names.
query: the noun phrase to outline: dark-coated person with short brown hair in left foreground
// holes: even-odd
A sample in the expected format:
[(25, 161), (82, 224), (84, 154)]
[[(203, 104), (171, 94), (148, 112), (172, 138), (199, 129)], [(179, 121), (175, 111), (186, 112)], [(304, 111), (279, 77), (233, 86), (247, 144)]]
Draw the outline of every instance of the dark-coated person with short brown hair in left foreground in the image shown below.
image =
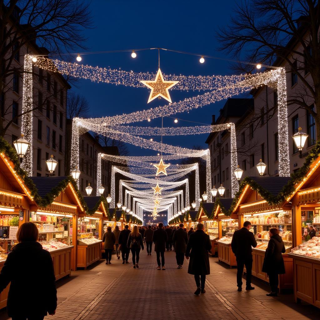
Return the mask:
[[(17, 232), (19, 243), (8, 254), (0, 273), (0, 292), (11, 283), (7, 313), (12, 320), (43, 320), (47, 314), (54, 315), (57, 308), (56, 278), (51, 254), (37, 242), (38, 238), (36, 225), (32, 222), (23, 223)], [(36, 297), (36, 306), (30, 303), (31, 297)]]

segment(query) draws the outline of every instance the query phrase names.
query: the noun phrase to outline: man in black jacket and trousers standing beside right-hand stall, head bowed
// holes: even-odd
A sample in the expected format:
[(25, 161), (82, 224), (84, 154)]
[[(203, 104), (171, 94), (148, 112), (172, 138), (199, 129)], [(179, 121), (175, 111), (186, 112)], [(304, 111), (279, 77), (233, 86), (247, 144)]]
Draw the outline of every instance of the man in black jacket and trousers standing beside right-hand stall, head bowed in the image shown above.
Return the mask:
[(245, 290), (253, 290), (251, 286), (251, 272), (252, 272), (252, 247), (257, 246), (257, 241), (254, 234), (249, 231), (251, 222), (245, 221), (243, 228), (235, 231), (231, 241), (232, 252), (236, 256), (237, 261), (237, 286), (238, 291), (242, 291), (242, 274), (244, 265), (246, 268), (246, 287)]

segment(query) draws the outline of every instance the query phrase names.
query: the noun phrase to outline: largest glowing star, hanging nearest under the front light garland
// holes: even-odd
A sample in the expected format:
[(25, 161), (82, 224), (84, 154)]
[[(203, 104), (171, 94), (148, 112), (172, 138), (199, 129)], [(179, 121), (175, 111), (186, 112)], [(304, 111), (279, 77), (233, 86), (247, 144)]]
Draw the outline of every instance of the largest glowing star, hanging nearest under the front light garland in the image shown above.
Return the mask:
[(151, 89), (148, 103), (157, 97), (171, 101), (169, 89), (176, 85), (179, 81), (164, 81), (160, 68), (158, 69), (156, 79), (154, 81), (140, 80), (145, 86)]

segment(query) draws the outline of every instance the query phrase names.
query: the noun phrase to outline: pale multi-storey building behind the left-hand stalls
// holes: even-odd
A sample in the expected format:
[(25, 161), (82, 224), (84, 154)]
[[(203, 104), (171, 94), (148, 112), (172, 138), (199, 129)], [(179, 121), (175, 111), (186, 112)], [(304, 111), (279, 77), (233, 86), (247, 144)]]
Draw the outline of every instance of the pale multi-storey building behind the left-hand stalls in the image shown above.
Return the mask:
[[(15, 10), (19, 10), (16, 7)], [(15, 13), (12, 13), (15, 15)], [(14, 19), (12, 19), (14, 21)], [(24, 25), (13, 23), (18, 33), (24, 32)], [(10, 29), (12, 25), (7, 25)], [(28, 35), (25, 35), (28, 37)], [(7, 40), (9, 41), (9, 40)], [(19, 45), (16, 46), (17, 48)], [(34, 41), (27, 41), (12, 60), (13, 74), (5, 79), (1, 94), (1, 115), (3, 125), (9, 121), (12, 124), (5, 132), (4, 138), (12, 143), (21, 134), (23, 70), (25, 54), (49, 54), (48, 50), (39, 47)], [(11, 54), (8, 54), (9, 60)], [(7, 61), (6, 60), (6, 61)], [(6, 61), (2, 61), (5, 68)], [(49, 171), (45, 161), (54, 156), (58, 161), (53, 175), (64, 175), (65, 133), (66, 133), (66, 101), (70, 89), (68, 82), (60, 74), (33, 68), (33, 176), (48, 176)]]

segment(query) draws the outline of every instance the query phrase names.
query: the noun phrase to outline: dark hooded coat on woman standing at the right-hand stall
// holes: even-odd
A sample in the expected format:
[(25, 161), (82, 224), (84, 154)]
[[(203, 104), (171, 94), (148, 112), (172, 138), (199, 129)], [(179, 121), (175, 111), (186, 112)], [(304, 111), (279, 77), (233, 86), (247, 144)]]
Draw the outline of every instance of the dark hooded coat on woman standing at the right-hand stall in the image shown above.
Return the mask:
[(272, 236), (269, 240), (268, 248), (264, 255), (262, 271), (268, 274), (285, 274), (282, 253), (285, 253), (285, 247), (281, 236)]

